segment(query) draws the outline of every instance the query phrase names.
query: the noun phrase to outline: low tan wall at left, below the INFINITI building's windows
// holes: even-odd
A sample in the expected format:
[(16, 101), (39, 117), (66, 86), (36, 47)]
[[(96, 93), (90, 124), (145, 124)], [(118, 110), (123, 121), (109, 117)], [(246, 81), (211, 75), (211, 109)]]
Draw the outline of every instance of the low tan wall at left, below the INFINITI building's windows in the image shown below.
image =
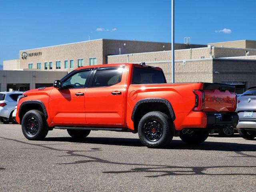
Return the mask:
[(43, 71), (0, 71), (0, 91), (6, 91), (7, 84), (30, 84), (30, 89), (35, 88), (36, 83), (53, 83), (64, 77), (67, 72), (43, 72)]

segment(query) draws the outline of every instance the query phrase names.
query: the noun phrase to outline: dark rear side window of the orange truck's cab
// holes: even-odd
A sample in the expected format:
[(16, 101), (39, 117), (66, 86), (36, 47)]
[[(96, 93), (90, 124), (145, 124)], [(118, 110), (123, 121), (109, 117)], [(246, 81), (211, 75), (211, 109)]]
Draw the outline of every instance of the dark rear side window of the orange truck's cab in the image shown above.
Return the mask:
[(92, 87), (105, 87), (117, 84), (122, 78), (122, 68), (97, 70)]

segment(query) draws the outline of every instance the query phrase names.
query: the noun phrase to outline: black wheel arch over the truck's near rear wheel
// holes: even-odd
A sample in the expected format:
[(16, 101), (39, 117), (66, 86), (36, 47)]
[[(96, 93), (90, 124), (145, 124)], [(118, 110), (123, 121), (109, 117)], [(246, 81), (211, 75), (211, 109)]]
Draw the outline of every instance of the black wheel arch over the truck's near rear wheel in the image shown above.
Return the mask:
[(147, 114), (148, 112), (151, 111), (159, 111), (162, 112), (164, 114), (166, 114), (167, 116), (170, 117), (170, 120), (172, 120), (172, 116), (170, 114), (170, 110), (168, 108), (168, 106), (164, 103), (161, 102), (148, 102), (148, 103), (142, 103), (140, 104), (135, 113), (134, 113), (134, 119), (133, 119), (133, 123), (134, 123), (134, 131), (137, 132), (138, 131), (138, 124), (140, 122), (140, 119)]

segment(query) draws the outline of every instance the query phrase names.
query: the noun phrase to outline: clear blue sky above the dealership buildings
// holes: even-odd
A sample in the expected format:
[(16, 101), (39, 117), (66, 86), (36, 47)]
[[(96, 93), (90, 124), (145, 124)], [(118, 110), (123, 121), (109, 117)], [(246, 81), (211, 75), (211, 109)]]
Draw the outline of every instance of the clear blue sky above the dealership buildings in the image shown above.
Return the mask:
[[(170, 42), (171, 0), (0, 0), (0, 65), (19, 50), (90, 39)], [(256, 40), (256, 0), (176, 0), (175, 41)]]

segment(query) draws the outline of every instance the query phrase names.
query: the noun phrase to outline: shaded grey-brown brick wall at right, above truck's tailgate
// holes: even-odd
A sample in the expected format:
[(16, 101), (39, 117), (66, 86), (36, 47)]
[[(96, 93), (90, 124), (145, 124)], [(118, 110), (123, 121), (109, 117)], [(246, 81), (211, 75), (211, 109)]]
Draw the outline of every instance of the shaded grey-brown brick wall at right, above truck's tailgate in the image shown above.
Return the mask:
[(246, 82), (246, 88), (256, 85), (256, 60), (214, 59), (213, 82)]

